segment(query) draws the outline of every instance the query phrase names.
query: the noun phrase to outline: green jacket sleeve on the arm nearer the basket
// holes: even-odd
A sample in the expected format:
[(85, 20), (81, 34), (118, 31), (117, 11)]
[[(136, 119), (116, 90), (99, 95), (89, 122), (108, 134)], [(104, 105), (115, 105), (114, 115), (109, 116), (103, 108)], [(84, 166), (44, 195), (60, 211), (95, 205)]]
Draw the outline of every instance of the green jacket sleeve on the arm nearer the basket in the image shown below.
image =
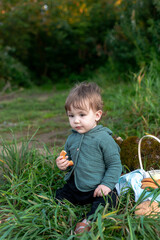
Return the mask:
[(101, 184), (113, 190), (122, 173), (120, 148), (114, 139), (110, 137), (107, 141), (101, 143), (101, 150), (105, 163), (105, 173)]

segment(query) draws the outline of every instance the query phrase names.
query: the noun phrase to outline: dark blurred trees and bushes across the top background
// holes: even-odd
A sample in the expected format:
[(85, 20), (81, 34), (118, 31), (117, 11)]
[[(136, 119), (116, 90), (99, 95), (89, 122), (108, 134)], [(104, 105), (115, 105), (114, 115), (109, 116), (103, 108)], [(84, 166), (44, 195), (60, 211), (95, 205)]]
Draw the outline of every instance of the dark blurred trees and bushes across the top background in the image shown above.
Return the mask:
[(159, 56), (159, 0), (0, 2), (0, 87), (128, 73)]

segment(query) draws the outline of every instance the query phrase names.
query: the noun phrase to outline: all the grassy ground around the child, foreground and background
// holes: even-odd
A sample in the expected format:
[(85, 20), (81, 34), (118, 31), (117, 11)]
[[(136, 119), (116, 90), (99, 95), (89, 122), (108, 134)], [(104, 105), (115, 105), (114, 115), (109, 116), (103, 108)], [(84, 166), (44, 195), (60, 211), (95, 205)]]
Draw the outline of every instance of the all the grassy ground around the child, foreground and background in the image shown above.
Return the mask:
[[(130, 83), (107, 82), (104, 74), (92, 79), (103, 90), (102, 124), (115, 136), (160, 134), (160, 81), (152, 73), (137, 74)], [(57, 85), (0, 96), (0, 239), (76, 239), (75, 224), (88, 206), (54, 202), (55, 190), (63, 184), (55, 158), (69, 135), (64, 111), (68, 92), (69, 87)], [(137, 204), (128, 191), (117, 210), (99, 208), (91, 232), (81, 239), (160, 239), (160, 216), (136, 217)]]

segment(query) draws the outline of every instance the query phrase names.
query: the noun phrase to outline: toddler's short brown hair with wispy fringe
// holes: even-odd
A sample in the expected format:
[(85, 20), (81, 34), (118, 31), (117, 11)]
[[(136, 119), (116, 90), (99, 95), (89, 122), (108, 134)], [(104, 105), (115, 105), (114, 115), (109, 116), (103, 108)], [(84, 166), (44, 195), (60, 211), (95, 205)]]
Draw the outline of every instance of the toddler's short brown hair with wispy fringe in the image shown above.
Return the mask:
[(77, 109), (85, 109), (86, 102), (89, 102), (89, 107), (94, 110), (102, 110), (103, 101), (100, 88), (93, 82), (82, 82), (76, 85), (69, 93), (65, 110), (70, 111), (71, 106)]

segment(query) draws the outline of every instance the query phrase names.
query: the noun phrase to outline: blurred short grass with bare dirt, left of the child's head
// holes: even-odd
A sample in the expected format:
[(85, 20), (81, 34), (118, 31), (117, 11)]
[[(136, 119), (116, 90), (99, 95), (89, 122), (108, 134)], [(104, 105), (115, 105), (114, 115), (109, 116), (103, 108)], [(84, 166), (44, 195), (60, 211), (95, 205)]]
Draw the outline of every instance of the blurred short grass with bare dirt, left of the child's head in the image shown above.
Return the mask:
[(57, 141), (62, 139), (59, 135), (64, 133), (66, 136), (68, 128), (63, 108), (66, 95), (67, 92), (64, 90), (57, 91), (53, 88), (45, 91), (36, 88), (12, 93), (11, 97), (10, 94), (3, 96), (0, 105), (0, 134), (9, 140), (9, 129), (12, 129), (21, 140), (39, 129), (37, 132), (39, 141), (56, 144), (56, 139)]

